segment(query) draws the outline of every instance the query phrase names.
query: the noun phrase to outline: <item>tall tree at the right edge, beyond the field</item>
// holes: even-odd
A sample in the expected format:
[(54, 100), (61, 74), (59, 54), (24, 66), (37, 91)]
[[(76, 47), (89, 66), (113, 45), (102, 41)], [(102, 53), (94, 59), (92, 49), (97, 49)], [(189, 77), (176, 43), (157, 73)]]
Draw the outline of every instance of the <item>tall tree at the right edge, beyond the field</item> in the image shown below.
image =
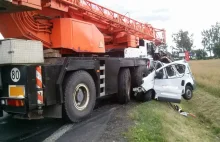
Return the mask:
[(220, 23), (217, 22), (210, 29), (203, 30), (201, 34), (204, 50), (209, 51), (211, 56), (214, 46), (220, 43)]

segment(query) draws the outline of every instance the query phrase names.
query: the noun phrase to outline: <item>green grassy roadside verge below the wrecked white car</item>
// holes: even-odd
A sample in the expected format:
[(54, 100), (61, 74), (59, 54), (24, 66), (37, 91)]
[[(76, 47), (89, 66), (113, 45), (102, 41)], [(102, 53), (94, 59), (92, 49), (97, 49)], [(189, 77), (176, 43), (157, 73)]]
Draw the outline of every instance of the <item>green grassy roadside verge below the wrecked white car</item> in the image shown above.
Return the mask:
[[(220, 113), (210, 113), (211, 106), (208, 102), (204, 103), (204, 99), (210, 101), (214, 96), (204, 97), (205, 93), (201, 92), (198, 89), (193, 100), (183, 101), (180, 105), (185, 111), (195, 114), (196, 118), (180, 115), (167, 103), (151, 101), (138, 105), (128, 114), (135, 125), (125, 133), (125, 137), (130, 142), (219, 142)], [(219, 101), (215, 100), (215, 103)]]

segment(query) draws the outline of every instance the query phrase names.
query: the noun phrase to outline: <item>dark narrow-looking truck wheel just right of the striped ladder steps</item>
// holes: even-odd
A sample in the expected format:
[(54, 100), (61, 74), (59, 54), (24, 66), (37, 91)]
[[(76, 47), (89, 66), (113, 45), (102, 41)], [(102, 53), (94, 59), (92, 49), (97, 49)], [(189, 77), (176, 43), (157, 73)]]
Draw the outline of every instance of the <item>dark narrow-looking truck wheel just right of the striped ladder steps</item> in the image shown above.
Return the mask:
[(130, 70), (121, 69), (118, 77), (118, 94), (119, 103), (126, 104), (130, 101), (131, 93), (131, 74)]

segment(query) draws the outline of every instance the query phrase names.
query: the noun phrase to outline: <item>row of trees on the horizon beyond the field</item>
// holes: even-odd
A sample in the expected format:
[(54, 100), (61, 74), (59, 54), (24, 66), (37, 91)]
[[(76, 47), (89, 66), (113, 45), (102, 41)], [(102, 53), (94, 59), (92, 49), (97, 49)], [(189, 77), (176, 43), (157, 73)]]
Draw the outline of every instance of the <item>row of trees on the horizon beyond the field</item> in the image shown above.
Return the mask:
[(178, 56), (180, 52), (189, 51), (196, 59), (205, 59), (208, 55), (209, 58), (220, 58), (220, 23), (217, 22), (215, 25), (211, 25), (209, 29), (204, 29), (201, 35), (203, 47), (195, 49), (193, 34), (183, 30), (174, 33), (172, 38), (176, 47), (171, 47), (172, 54)]

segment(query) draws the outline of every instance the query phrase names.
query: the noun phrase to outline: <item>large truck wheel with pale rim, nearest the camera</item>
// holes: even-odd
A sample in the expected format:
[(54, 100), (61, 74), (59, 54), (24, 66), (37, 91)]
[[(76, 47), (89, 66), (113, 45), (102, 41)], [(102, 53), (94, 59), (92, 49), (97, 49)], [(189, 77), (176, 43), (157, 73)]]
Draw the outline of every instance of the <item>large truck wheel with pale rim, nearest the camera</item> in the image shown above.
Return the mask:
[(79, 122), (95, 106), (96, 88), (93, 78), (86, 71), (77, 71), (67, 79), (64, 90), (64, 107), (68, 119)]

